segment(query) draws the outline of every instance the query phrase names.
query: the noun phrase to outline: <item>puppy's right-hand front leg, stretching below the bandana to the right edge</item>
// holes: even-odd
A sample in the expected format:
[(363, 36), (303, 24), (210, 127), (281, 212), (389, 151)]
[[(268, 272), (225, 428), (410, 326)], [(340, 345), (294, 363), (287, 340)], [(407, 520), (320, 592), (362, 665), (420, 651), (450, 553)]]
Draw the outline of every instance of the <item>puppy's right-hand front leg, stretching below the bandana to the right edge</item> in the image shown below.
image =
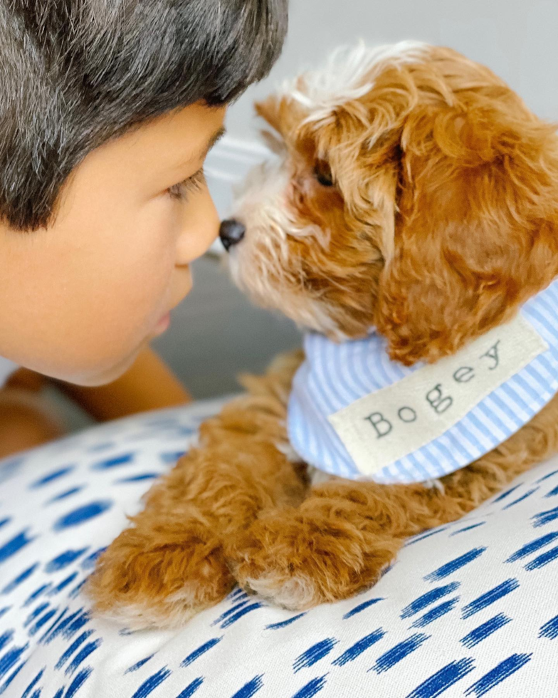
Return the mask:
[(335, 479), (312, 488), (298, 509), (264, 512), (231, 541), (233, 571), (244, 588), (293, 610), (347, 598), (378, 580), (405, 538), (459, 519), (557, 450), (554, 398), (439, 489)]

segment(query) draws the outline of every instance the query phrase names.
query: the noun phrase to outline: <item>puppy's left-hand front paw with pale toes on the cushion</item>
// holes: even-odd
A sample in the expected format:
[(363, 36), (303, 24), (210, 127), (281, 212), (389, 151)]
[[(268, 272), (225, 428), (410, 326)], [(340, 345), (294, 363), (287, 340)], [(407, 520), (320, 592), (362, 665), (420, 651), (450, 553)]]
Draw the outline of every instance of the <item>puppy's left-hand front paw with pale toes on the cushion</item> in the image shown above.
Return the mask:
[(138, 630), (184, 625), (233, 584), (221, 542), (204, 523), (146, 521), (102, 553), (86, 591), (95, 612)]

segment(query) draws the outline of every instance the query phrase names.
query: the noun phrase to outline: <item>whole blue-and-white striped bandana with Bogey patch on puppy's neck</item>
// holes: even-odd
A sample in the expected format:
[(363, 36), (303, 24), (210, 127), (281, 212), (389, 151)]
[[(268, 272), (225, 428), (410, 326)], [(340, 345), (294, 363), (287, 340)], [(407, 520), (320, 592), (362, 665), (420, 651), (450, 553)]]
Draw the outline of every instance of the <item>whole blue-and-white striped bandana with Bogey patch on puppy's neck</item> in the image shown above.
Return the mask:
[(305, 335), (290, 442), (308, 464), (382, 484), (437, 479), (490, 452), (558, 391), (558, 279), (452, 356), (407, 367), (371, 333)]

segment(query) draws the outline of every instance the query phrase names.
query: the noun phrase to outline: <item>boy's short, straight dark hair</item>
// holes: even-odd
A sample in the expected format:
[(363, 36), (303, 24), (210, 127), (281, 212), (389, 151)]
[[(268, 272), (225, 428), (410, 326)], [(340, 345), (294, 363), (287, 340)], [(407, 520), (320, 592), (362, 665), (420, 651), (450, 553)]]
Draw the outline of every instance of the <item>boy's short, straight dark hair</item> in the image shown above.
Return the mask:
[(230, 102), (278, 58), (288, 0), (0, 0), (0, 212), (45, 225), (111, 137)]

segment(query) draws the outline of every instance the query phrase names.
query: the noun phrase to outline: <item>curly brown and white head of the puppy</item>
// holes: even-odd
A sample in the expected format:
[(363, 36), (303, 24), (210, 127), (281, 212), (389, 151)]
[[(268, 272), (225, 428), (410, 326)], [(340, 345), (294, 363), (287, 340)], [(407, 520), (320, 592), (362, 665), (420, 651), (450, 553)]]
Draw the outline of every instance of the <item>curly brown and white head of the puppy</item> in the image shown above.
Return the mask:
[(507, 321), (558, 274), (555, 126), (488, 68), (361, 46), (256, 108), (277, 157), (248, 178), (230, 251), (263, 306), (336, 339), (375, 326), (412, 364)]

